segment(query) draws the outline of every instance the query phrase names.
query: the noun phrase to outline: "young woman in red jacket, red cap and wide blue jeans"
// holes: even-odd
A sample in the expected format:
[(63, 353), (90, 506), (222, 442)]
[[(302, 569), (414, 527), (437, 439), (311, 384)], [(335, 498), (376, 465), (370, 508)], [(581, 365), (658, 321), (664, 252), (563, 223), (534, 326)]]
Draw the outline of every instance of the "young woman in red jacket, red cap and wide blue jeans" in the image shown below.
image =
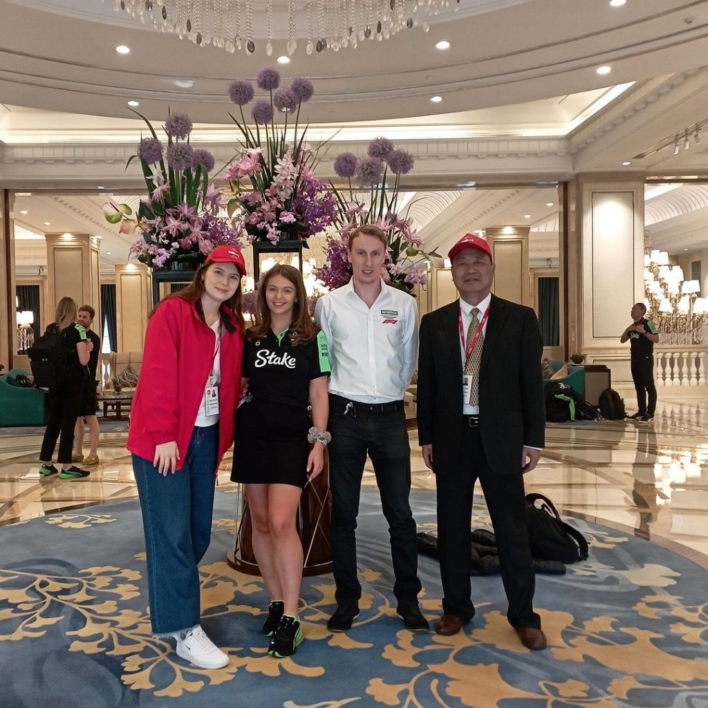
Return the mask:
[(219, 462), (234, 439), (244, 318), (234, 246), (217, 246), (150, 316), (127, 447), (142, 508), (152, 631), (200, 668), (229, 657), (199, 623), (198, 564), (209, 547)]

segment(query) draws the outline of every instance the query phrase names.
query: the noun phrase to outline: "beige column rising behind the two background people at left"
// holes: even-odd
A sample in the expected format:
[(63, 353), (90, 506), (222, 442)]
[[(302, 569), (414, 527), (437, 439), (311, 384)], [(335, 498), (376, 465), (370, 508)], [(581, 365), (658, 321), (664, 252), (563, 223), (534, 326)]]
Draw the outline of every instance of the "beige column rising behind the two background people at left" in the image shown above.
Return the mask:
[[(76, 304), (89, 304), (96, 310), (94, 323), (101, 322), (101, 241), (90, 234), (45, 234), (47, 241), (47, 321), (62, 297), (73, 297)], [(98, 324), (98, 329), (101, 325)]]

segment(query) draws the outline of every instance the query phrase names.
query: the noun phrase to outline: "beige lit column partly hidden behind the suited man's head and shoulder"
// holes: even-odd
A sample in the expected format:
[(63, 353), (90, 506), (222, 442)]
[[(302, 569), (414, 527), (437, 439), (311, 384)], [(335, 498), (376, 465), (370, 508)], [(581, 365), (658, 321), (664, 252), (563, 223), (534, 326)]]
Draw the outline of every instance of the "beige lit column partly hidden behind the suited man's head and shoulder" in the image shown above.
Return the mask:
[(496, 263), (492, 292), (497, 297), (530, 305), (529, 232), (527, 226), (495, 226), (484, 234)]

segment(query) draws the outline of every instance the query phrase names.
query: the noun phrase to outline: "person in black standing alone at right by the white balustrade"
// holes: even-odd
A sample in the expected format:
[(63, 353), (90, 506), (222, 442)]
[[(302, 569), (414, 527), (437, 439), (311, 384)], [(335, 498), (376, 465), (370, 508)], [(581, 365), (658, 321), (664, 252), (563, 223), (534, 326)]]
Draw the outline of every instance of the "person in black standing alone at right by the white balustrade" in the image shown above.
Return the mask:
[[(646, 319), (646, 305), (636, 302), (629, 311), (632, 324), (619, 338), (624, 344), (629, 339), (631, 347), (632, 379), (636, 389), (636, 403), (639, 410), (629, 416), (641, 423), (651, 423), (656, 411), (656, 385), (654, 385), (654, 345), (659, 341), (658, 329), (650, 319)], [(649, 404), (647, 404), (649, 396)]]

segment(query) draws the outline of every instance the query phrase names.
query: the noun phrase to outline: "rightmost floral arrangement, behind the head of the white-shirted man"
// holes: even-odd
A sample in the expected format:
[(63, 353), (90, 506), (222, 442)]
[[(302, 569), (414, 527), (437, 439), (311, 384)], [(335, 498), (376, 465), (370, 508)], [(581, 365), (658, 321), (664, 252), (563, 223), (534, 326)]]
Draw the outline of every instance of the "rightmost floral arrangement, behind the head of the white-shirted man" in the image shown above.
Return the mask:
[[(440, 258), (438, 253), (423, 250), (423, 241), (406, 217), (399, 215), (399, 188), (401, 175), (413, 168), (413, 156), (397, 150), (392, 141), (377, 137), (369, 143), (368, 156), (359, 159), (350, 152), (343, 152), (334, 161), (334, 171), (348, 181), (343, 190), (332, 186), (336, 195), (338, 212), (334, 219), (339, 237), (331, 237), (326, 246), (326, 262), (316, 273), (324, 284), (333, 289), (346, 285), (352, 275), (348, 258), (349, 234), (364, 224), (375, 224), (388, 240), (386, 273), (382, 274), (389, 285), (411, 292), (413, 285), (428, 282), (428, 258)], [(387, 177), (394, 176), (392, 186)], [(352, 178), (361, 190), (369, 190), (366, 203), (355, 192)]]

